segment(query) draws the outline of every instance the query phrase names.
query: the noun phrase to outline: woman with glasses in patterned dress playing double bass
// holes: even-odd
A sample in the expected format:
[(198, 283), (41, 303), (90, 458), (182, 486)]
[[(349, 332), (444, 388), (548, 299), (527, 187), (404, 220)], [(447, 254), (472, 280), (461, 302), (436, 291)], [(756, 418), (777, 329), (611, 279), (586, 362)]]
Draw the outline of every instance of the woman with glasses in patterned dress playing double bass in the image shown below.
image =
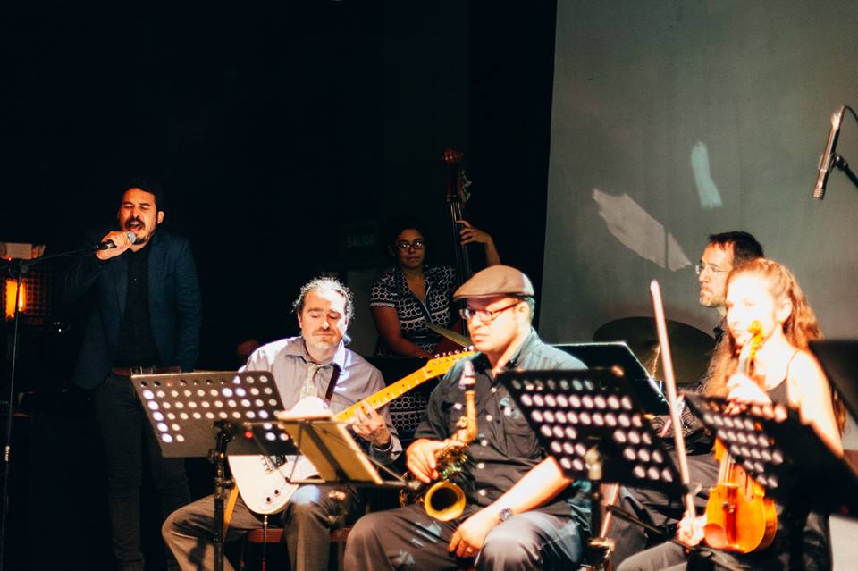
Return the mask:
[[(483, 244), (486, 265), (501, 264), (492, 236), (465, 220), (459, 222), (461, 243)], [(454, 321), (450, 298), (458, 282), (456, 270), (450, 265), (425, 265), (425, 236), (423, 224), (416, 220), (391, 224), (386, 243), (396, 266), (374, 281), (369, 302), (379, 337), (376, 355), (433, 357), (440, 336), (426, 324), (450, 328)]]

